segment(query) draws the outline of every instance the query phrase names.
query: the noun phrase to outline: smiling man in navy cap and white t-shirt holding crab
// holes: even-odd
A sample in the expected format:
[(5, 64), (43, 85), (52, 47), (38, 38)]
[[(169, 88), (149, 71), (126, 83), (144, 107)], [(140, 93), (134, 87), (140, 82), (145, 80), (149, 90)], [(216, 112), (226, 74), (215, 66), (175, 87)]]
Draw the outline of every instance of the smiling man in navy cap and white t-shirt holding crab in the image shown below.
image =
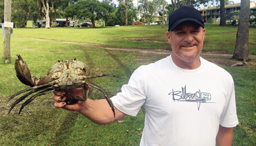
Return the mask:
[[(53, 96), (55, 107), (108, 124), (126, 114), (136, 116), (144, 105), (140, 145), (231, 145), (238, 124), (234, 83), (227, 71), (200, 57), (205, 37), (201, 14), (179, 8), (170, 15), (166, 35), (172, 55), (134, 71), (122, 92), (111, 98), (115, 118), (106, 100), (66, 105), (64, 91)], [(83, 97), (81, 88), (66, 92)]]

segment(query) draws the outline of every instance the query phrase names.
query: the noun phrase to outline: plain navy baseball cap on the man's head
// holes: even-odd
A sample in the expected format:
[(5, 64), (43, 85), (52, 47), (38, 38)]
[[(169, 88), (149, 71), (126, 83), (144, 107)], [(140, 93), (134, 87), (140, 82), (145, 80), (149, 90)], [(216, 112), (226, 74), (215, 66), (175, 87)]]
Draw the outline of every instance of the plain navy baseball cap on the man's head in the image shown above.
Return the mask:
[(185, 21), (196, 22), (204, 28), (204, 21), (202, 20), (200, 12), (195, 8), (182, 6), (170, 14), (168, 31), (173, 31), (176, 26)]

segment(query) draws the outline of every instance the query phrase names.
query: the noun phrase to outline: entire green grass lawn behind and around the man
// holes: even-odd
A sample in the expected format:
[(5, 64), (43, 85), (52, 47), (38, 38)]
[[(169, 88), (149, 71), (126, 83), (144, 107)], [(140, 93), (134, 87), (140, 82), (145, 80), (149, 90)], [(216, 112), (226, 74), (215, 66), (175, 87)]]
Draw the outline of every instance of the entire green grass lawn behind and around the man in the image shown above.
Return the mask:
[[(203, 52), (233, 53), (237, 28), (205, 24)], [(11, 37), (10, 64), (4, 64), (0, 53), (0, 144), (1, 145), (139, 145), (145, 111), (136, 117), (126, 116), (123, 123), (99, 126), (76, 112), (55, 109), (52, 94), (38, 97), (25, 106), (23, 102), (8, 114), (17, 91), (28, 88), (16, 78), (14, 60), (17, 53), (27, 62), (31, 75), (40, 78), (57, 60), (76, 58), (89, 65), (91, 75), (116, 73), (122, 79), (102, 77), (90, 79), (110, 96), (127, 84), (131, 73), (143, 64), (169, 55), (165, 32), (167, 26), (120, 26), (105, 28), (14, 28)], [(256, 29), (249, 29), (249, 50), (256, 54)], [(3, 37), (0, 38), (3, 41)], [(3, 48), (3, 43), (0, 44)], [(112, 48), (112, 49), (111, 49)], [(121, 48), (121, 49), (113, 49)], [(122, 49), (123, 48), (123, 49)], [(134, 49), (134, 50), (131, 50)], [(156, 52), (159, 50), (159, 52)], [(142, 51), (148, 50), (148, 51)], [(152, 50), (149, 51), (149, 50)], [(3, 50), (1, 50), (3, 52)], [(205, 56), (207, 58), (207, 56)], [(255, 62), (255, 57), (252, 57)], [(256, 67), (224, 67), (234, 78), (239, 125), (234, 128), (233, 145), (256, 145)], [(91, 99), (103, 94), (92, 88)]]

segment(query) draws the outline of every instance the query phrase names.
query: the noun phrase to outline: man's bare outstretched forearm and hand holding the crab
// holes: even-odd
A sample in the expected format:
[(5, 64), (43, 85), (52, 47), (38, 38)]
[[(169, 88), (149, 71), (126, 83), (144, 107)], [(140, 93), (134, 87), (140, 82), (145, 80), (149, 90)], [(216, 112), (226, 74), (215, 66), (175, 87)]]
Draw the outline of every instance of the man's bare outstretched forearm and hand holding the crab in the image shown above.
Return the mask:
[(66, 105), (65, 96), (67, 96), (67, 94), (65, 93), (67, 92), (69, 95), (72, 95), (72, 97), (83, 97), (82, 88), (67, 91), (56, 91), (52, 96), (52, 98), (56, 101), (54, 103), (55, 108), (63, 108), (68, 111), (78, 111), (80, 114), (84, 115), (84, 117), (89, 118), (89, 120), (96, 124), (113, 123), (126, 115), (114, 107), (114, 112), (116, 113), (116, 117), (114, 117), (114, 114), (108, 105), (107, 100), (105, 99), (86, 99), (86, 101), (78, 101), (73, 105)]

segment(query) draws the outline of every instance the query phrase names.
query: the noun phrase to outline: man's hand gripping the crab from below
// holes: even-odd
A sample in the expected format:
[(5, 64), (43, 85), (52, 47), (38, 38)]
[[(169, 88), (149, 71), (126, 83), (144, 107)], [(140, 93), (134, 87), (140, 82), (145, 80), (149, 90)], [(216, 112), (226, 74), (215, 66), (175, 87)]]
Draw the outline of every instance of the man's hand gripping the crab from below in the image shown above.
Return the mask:
[(65, 91), (54, 91), (54, 95), (52, 96), (52, 99), (56, 101), (54, 103), (54, 107), (63, 108), (68, 111), (79, 111), (84, 101), (78, 101), (73, 105), (67, 105), (66, 100), (67, 98), (74, 99), (75, 97), (87, 99), (90, 86), (86, 85), (85, 88), (86, 88), (86, 97), (83, 97), (83, 88), (76, 88), (76, 89), (65, 90)]

